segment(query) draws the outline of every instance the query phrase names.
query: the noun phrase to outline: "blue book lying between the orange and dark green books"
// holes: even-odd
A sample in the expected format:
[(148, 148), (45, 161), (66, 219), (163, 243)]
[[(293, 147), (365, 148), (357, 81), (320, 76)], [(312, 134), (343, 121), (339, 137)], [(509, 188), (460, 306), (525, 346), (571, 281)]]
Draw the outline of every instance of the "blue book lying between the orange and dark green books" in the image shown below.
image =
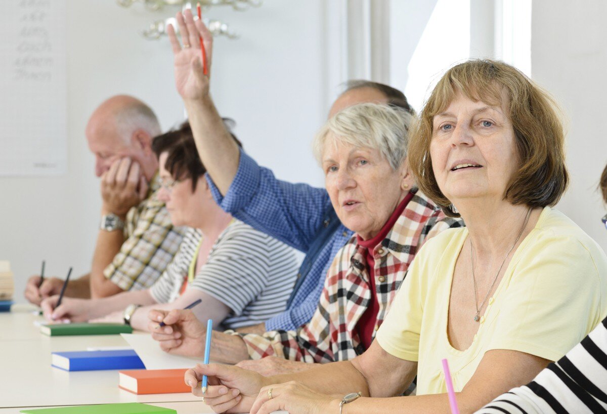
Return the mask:
[(132, 349), (53, 352), (53, 367), (66, 371), (138, 370), (145, 365)]

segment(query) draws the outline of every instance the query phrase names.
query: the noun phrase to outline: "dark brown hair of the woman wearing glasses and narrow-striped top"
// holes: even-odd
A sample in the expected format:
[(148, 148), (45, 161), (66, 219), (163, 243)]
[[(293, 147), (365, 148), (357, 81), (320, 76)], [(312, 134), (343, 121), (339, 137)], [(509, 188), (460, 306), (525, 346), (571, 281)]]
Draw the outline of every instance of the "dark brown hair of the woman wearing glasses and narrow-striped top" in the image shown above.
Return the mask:
[[(233, 121), (229, 118), (224, 118), (223, 121), (234, 141), (239, 147), (242, 147), (240, 141), (229, 131), (228, 126)], [(171, 173), (174, 180), (192, 178), (192, 192), (195, 191), (198, 178), (205, 175), (206, 168), (198, 155), (192, 128), (188, 121), (185, 121), (177, 129), (172, 129), (155, 137), (152, 141), (152, 150), (158, 158), (160, 158), (160, 154), (167, 152), (168, 157), (164, 169)]]

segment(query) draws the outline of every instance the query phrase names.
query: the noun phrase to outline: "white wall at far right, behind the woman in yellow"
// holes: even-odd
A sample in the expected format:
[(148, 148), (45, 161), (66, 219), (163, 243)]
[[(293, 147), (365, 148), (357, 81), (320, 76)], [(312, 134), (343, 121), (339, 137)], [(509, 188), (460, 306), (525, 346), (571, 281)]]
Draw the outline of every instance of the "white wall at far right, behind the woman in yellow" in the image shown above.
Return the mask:
[(534, 0), (532, 77), (557, 98), (568, 118), (571, 185), (558, 209), (607, 251), (597, 185), (607, 163), (607, 26), (603, 0)]

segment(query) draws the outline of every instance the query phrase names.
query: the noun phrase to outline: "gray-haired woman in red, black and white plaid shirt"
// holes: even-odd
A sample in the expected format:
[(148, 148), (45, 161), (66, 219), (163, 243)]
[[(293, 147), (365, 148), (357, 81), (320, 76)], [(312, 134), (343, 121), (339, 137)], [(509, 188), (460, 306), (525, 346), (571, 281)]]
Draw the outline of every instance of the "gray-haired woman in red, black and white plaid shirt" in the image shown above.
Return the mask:
[[(413, 186), (406, 162), (411, 121), (412, 115), (396, 107), (359, 104), (325, 123), (314, 138), (314, 155), (337, 216), (356, 234), (333, 260), (310, 322), (264, 334), (214, 331), (211, 359), (346, 361), (370, 347), (416, 251), (429, 237), (462, 225)], [(172, 316), (164, 323), (173, 324)], [(181, 317), (177, 326), (178, 336), (167, 335), (161, 346), (200, 356), (194, 353), (202, 349), (195, 333), (202, 324)]]

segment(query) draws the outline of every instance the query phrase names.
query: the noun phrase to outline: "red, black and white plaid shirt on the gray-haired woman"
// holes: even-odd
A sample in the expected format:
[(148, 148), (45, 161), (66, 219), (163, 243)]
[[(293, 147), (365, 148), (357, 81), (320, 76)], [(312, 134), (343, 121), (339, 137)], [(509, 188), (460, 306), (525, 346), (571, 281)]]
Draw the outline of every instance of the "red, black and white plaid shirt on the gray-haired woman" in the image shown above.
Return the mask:
[(438, 232), (460, 226), (463, 226), (461, 220), (446, 217), (418, 191), (386, 238), (374, 249), (375, 293), (371, 292), (368, 282), (365, 249), (356, 243), (354, 236), (333, 260), (311, 321), (294, 331), (240, 334), (249, 356), (259, 359), (276, 355), (294, 361), (332, 362), (360, 355), (364, 347), (356, 325), (371, 302), (371, 294), (375, 294), (379, 302), (373, 330), (375, 338), (421, 245)]

